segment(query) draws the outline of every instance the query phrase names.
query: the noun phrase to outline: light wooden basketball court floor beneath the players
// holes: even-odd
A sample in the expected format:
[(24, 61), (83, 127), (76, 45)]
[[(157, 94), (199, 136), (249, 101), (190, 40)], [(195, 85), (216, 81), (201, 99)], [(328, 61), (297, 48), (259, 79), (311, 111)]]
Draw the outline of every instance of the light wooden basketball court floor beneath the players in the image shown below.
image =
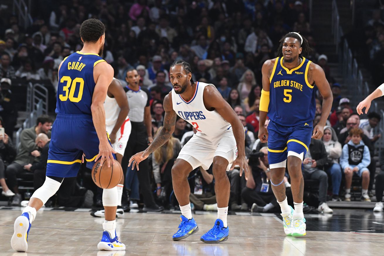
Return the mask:
[[(70, 210), (70, 211), (67, 211)], [(196, 212), (200, 230), (182, 241), (172, 241), (179, 213), (125, 213), (117, 220), (117, 232), (126, 251), (98, 251), (102, 218), (90, 209), (44, 209), (39, 211), (28, 237), (27, 253), (10, 246), (13, 222), (21, 208), (0, 207), (0, 255), (382, 255), (384, 221), (372, 210), (334, 210), (334, 214), (306, 215), (307, 235), (291, 238), (284, 234), (278, 214), (232, 213), (228, 215), (230, 237), (220, 244), (205, 244), (200, 236), (212, 228), (215, 212)]]

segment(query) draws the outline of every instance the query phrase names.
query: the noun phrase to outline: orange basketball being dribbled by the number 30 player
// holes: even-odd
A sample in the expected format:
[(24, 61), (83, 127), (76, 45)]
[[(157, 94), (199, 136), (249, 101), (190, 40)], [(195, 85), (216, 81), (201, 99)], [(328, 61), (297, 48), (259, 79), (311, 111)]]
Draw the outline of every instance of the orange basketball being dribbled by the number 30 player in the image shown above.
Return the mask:
[(113, 188), (122, 178), (122, 168), (118, 161), (108, 167), (107, 160), (100, 166), (100, 159), (92, 167), (92, 180), (99, 188)]

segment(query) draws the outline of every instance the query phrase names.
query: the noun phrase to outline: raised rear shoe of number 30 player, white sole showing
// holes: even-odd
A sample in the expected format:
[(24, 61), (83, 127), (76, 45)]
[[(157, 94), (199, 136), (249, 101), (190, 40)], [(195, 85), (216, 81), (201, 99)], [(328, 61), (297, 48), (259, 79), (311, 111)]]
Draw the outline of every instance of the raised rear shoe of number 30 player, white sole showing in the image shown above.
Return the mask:
[(11, 238), (11, 246), (15, 251), (26, 252), (28, 249), (28, 233), (31, 229), (29, 214), (23, 213), (18, 216), (13, 224), (13, 236)]

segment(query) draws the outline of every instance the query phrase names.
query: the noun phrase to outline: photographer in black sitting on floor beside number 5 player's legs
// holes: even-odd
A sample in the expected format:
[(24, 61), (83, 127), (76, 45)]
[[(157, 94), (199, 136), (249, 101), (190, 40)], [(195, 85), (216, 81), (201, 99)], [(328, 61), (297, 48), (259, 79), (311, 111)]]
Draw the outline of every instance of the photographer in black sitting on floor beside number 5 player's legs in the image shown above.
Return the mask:
[[(242, 197), (248, 206), (252, 206), (252, 212), (280, 211), (279, 204), (271, 189), (271, 175), (268, 168), (268, 148), (262, 147), (259, 152), (252, 151), (249, 156), (250, 173), (247, 185), (242, 190)], [(286, 193), (291, 194), (290, 188)], [(292, 196), (287, 196), (293, 205)]]

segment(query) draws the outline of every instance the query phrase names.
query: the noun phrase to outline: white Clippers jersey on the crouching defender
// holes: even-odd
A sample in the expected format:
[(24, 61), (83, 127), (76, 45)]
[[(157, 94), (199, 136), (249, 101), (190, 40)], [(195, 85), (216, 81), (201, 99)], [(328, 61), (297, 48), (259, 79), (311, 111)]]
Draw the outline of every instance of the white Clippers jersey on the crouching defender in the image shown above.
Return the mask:
[(172, 105), (176, 114), (194, 126), (198, 132), (215, 138), (222, 136), (231, 125), (216, 110), (208, 111), (205, 108), (203, 101), (205, 86), (216, 88), (212, 84), (197, 82), (195, 94), (190, 101), (185, 101), (172, 89)]

